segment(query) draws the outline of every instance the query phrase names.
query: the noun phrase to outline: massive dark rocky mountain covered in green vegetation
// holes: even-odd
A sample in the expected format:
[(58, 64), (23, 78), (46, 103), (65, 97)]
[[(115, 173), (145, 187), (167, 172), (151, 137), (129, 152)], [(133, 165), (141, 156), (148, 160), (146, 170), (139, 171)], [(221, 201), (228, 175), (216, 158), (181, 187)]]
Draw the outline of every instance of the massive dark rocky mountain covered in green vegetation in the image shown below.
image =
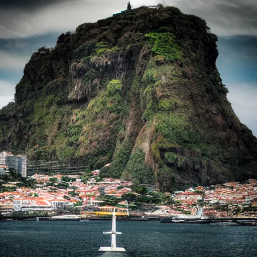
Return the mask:
[(257, 141), (226, 98), (217, 37), (177, 8), (142, 7), (62, 34), (0, 111), (0, 150), (71, 160), (161, 190), (256, 177)]

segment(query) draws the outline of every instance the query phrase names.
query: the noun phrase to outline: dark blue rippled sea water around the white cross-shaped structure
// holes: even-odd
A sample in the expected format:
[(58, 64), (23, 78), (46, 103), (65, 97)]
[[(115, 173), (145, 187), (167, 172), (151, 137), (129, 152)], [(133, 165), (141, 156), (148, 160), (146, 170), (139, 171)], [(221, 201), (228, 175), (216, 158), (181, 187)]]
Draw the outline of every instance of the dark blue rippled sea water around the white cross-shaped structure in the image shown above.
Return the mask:
[(123, 253), (99, 252), (110, 246), (111, 221), (0, 222), (1, 257), (254, 257), (257, 227), (117, 221)]

